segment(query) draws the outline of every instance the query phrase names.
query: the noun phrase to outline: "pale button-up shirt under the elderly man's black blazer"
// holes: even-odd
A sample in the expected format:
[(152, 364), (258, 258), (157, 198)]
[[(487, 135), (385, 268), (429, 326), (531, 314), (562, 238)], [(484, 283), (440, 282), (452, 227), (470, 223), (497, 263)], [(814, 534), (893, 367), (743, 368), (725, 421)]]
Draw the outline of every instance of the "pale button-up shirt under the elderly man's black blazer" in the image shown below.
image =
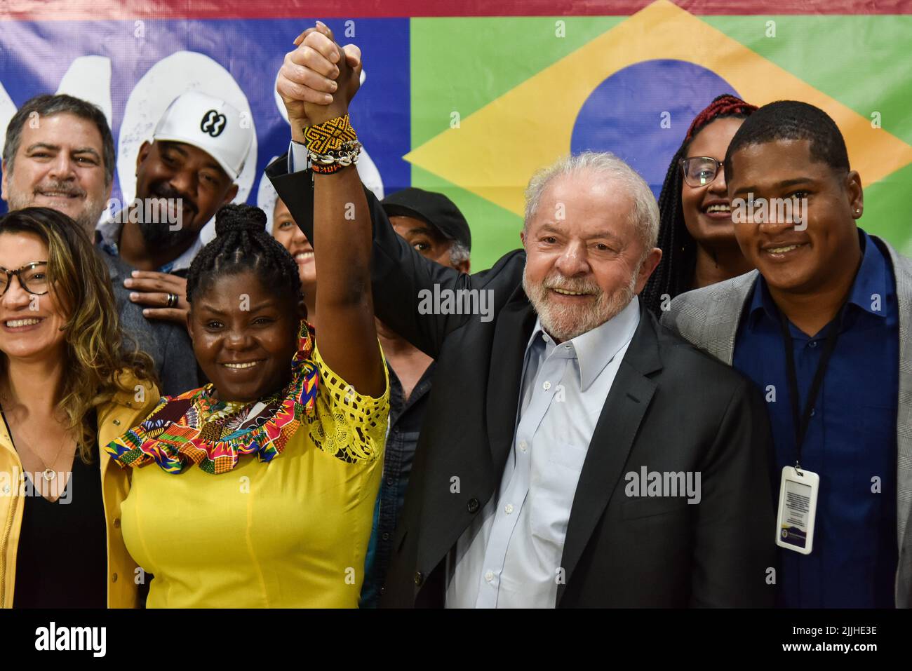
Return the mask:
[(637, 325), (636, 297), (560, 345), (536, 321), (500, 488), (447, 558), (448, 608), (554, 607), (576, 483)]

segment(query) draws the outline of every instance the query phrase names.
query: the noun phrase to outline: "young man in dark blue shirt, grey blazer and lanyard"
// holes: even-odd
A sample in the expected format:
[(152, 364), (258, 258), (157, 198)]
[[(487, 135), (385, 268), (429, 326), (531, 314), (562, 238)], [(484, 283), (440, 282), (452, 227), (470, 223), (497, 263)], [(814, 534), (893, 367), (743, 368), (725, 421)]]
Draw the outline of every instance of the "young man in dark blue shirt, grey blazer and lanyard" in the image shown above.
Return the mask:
[[(775, 492), (784, 468), (819, 477), (811, 552), (779, 549), (778, 603), (908, 607), (912, 261), (856, 226), (861, 178), (821, 109), (755, 112), (731, 140), (725, 179), (757, 270), (681, 294), (662, 323), (761, 387)], [(792, 216), (780, 216), (785, 201)], [(752, 208), (743, 222), (735, 203)]]

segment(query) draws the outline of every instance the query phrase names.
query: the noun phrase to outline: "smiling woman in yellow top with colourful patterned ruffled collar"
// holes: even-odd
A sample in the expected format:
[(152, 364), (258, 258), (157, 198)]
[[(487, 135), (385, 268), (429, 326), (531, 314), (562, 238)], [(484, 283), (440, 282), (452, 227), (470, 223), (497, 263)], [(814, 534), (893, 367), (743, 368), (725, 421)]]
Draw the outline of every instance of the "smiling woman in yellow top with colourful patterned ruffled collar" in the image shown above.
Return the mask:
[(320, 338), (295, 260), (265, 214), (226, 205), (187, 277), (212, 382), (163, 397), (112, 441), (150, 607), (357, 606), (382, 474), (389, 381), (366, 273), (370, 240), (316, 216)]

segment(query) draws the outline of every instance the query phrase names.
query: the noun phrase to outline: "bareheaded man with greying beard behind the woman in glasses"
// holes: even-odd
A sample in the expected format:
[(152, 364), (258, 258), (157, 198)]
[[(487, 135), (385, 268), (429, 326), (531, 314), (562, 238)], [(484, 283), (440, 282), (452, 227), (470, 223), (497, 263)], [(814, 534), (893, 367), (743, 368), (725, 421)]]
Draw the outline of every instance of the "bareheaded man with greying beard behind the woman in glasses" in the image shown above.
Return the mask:
[[(89, 239), (114, 183), (114, 139), (95, 105), (64, 94), (31, 98), (10, 119), (3, 150), (3, 199), (10, 210), (48, 207), (82, 225)], [(150, 321), (130, 302), (130, 266), (98, 250), (108, 266), (124, 332), (155, 361), (163, 394), (198, 387), (185, 325)]]

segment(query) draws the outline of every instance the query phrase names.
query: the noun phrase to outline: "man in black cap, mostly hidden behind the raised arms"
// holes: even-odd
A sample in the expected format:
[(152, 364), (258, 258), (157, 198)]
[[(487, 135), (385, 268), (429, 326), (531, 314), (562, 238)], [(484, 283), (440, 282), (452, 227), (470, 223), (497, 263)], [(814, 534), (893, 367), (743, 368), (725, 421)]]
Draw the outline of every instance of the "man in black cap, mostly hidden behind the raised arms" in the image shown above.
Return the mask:
[[(399, 236), (422, 256), (461, 273), (469, 272), (472, 233), (449, 198), (409, 188), (387, 196), (380, 204)], [(379, 602), (434, 373), (430, 356), (379, 319), (377, 333), (389, 364), (389, 438), (361, 588), (362, 608), (376, 607)]]

